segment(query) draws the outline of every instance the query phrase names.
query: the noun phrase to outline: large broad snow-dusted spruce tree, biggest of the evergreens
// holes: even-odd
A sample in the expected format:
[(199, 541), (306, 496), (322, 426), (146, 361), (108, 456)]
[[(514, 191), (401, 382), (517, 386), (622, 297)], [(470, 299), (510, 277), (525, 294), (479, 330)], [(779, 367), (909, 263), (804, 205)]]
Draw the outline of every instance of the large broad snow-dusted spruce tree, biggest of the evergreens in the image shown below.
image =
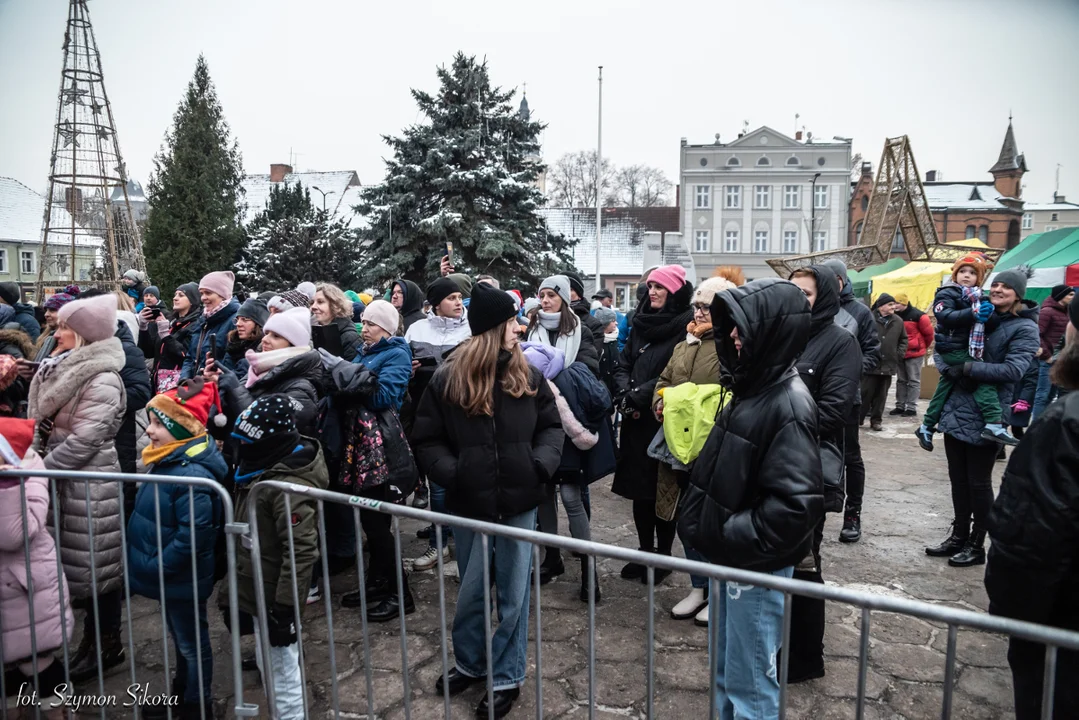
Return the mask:
[(365, 188), (356, 207), (369, 222), (369, 283), (423, 286), (448, 242), (459, 271), (489, 273), (505, 287), (531, 289), (551, 268), (572, 269), (569, 244), (537, 214), (544, 125), (513, 107), (515, 91), (491, 86), (486, 62), (457, 53), (437, 76), (436, 94), (411, 91), (425, 120), (384, 136), (393, 150), (385, 180)]

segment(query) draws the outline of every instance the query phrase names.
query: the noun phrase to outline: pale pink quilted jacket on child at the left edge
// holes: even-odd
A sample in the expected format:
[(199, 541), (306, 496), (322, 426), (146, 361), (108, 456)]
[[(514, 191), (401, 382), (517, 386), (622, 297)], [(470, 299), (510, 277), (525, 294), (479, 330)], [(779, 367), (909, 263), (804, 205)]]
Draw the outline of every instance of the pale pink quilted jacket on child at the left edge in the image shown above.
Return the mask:
[[(23, 467), (44, 467), (29, 450)], [(64, 574), (57, 571), (56, 545), (46, 527), (49, 480), (26, 478), (26, 534), (30, 539), (30, 578), (33, 581), (33, 628), (30, 628), (30, 597), (26, 578), (26, 543), (23, 530), (22, 493), (17, 480), (0, 479), (0, 642), (5, 663), (27, 660), (32, 654), (31, 631), (38, 653), (62, 648), (74, 630), (70, 596)], [(60, 588), (64, 602), (59, 601)], [(63, 616), (63, 623), (60, 617)]]

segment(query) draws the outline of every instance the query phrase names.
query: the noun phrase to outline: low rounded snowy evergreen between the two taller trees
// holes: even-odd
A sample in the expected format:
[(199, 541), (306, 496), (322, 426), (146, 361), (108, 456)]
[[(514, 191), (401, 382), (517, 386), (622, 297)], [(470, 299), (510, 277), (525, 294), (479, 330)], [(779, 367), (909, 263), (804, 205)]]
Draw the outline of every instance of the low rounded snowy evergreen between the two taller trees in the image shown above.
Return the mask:
[(285, 290), (303, 281), (358, 286), (361, 249), (346, 220), (311, 204), (301, 182), (270, 188), (267, 206), (247, 227), (236, 276), (249, 289)]

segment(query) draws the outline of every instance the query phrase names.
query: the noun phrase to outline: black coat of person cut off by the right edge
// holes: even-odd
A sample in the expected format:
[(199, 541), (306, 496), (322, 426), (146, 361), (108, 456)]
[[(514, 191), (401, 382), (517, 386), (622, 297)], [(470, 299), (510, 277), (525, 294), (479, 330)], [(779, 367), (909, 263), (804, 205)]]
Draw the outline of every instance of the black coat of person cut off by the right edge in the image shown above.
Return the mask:
[(989, 612), (1079, 630), (1079, 393), (1049, 405), (1008, 459), (989, 513)]

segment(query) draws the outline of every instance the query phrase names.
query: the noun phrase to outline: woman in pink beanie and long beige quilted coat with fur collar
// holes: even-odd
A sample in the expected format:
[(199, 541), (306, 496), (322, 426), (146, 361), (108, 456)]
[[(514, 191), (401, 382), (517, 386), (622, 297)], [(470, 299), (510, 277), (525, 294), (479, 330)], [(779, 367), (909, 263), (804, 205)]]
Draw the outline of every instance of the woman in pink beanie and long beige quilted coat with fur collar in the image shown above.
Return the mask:
[[(118, 473), (115, 438), (126, 399), (120, 379), (124, 350), (115, 337), (115, 297), (110, 294), (69, 302), (60, 309), (57, 321), (54, 354), (41, 364), (30, 385), (29, 417), (38, 424), (35, 449), (49, 470)], [(58, 480), (56, 495), (64, 574), (72, 600), (88, 609), (82, 641), (69, 665), (71, 680), (80, 682), (97, 675), (98, 651), (103, 670), (125, 658), (120, 638), (120, 489), (115, 483)], [(95, 594), (96, 619), (91, 602)], [(95, 623), (100, 631), (99, 648)]]

